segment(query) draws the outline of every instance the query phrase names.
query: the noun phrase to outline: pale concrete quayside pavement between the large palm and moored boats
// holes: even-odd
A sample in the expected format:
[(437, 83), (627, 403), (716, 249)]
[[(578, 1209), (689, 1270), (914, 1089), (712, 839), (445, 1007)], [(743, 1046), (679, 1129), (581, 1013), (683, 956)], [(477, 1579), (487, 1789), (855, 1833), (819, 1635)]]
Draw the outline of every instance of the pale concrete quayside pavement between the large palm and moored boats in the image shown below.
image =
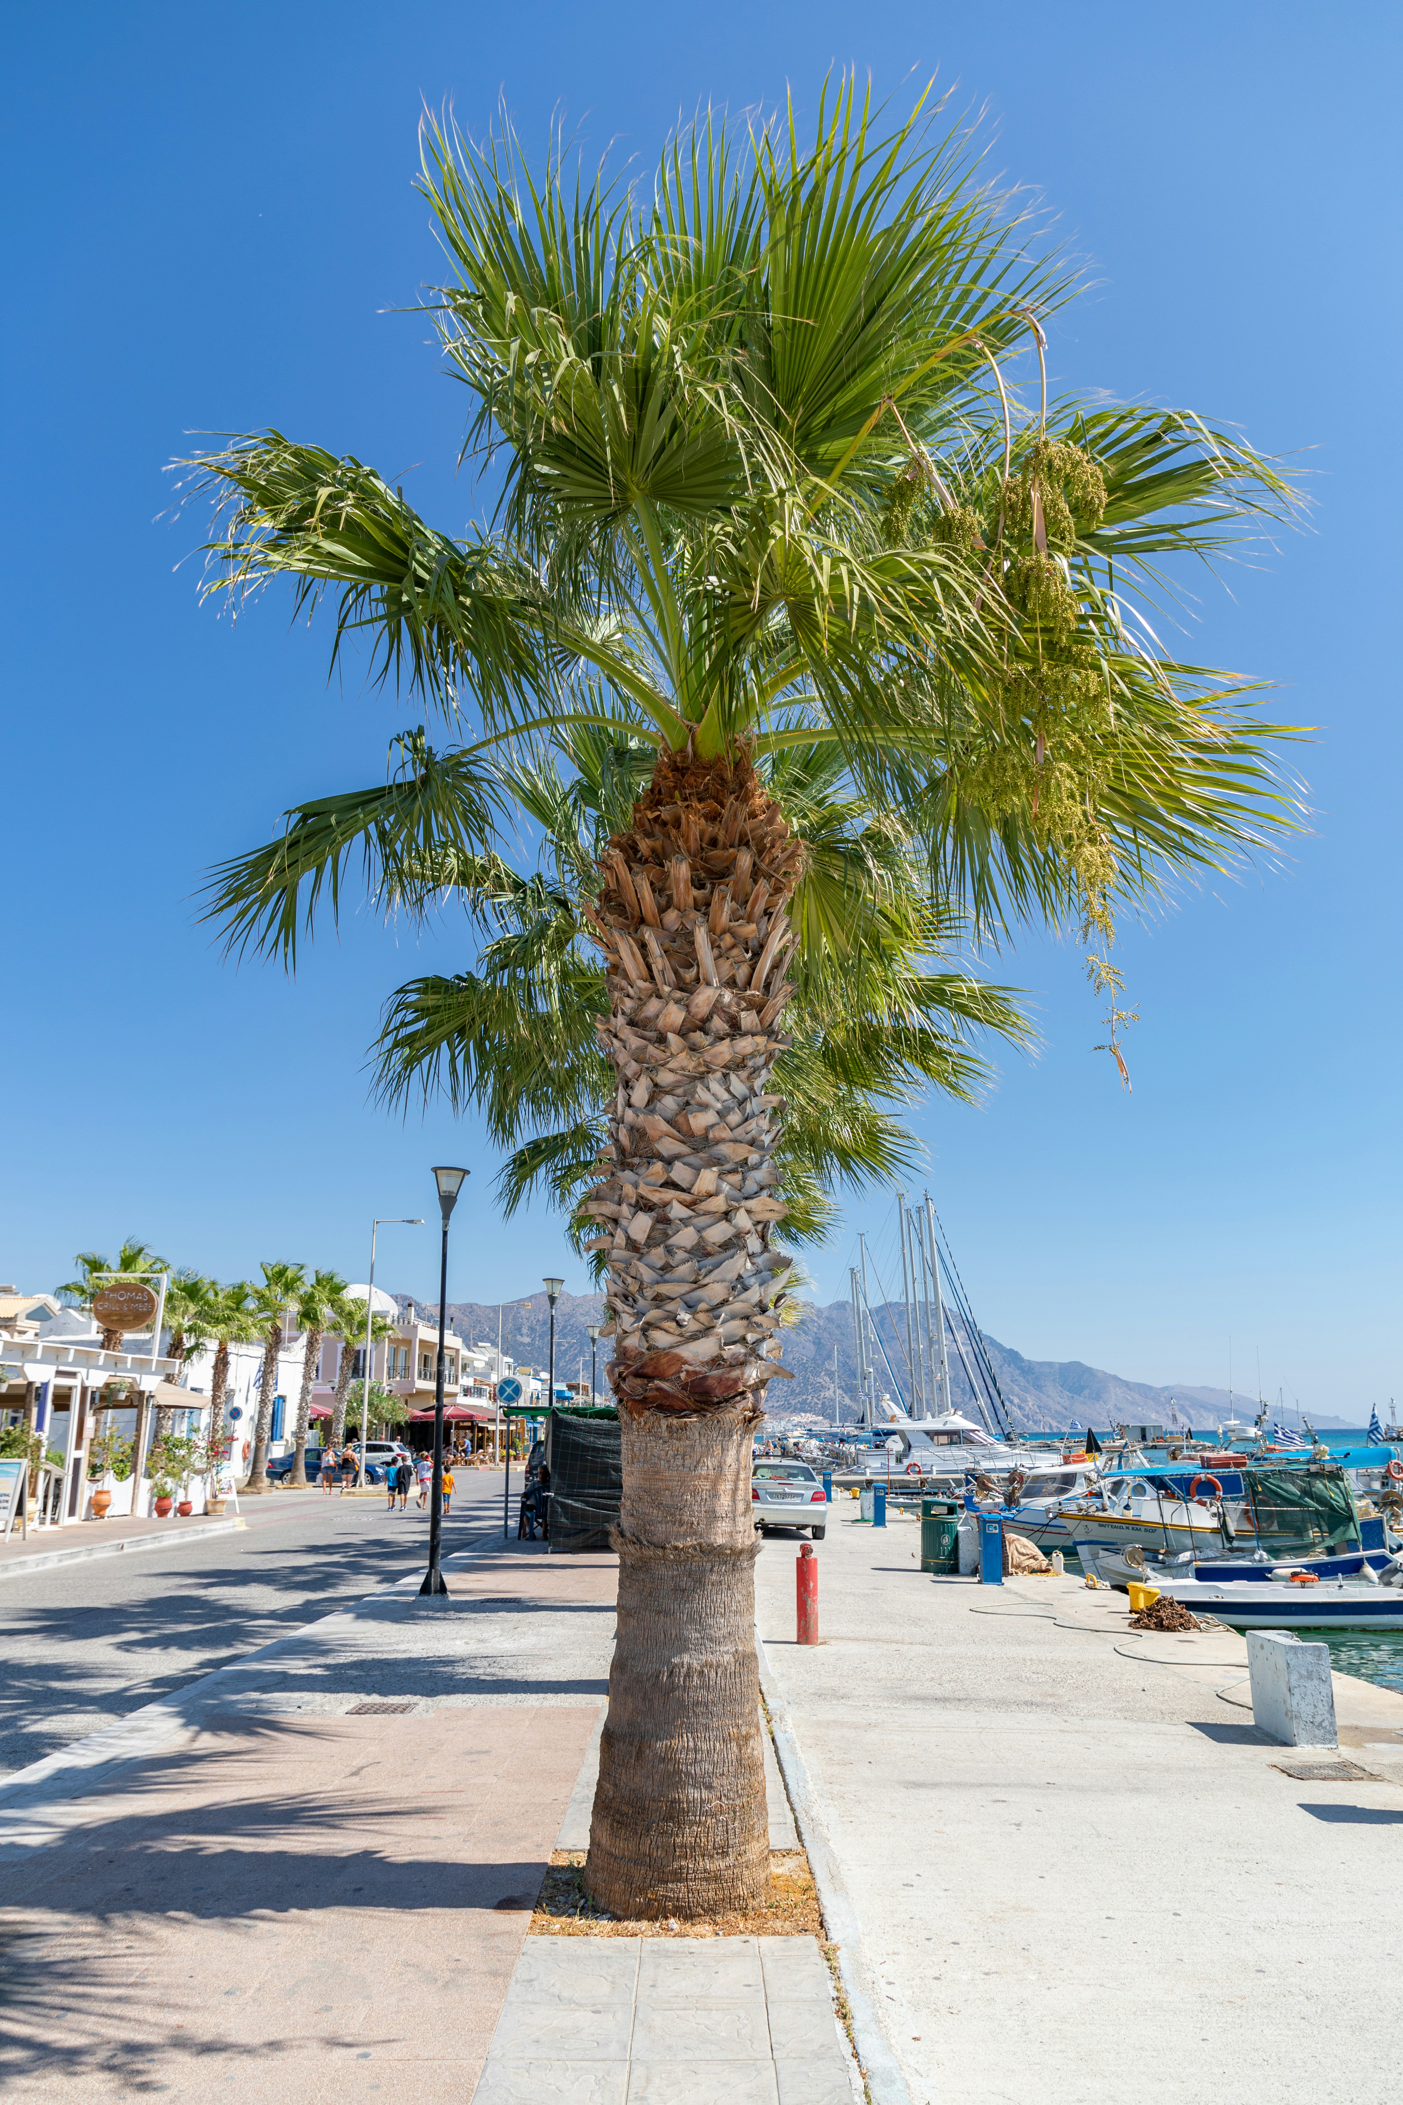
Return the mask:
[(917, 2105), (1371, 2094), (1403, 1960), (1403, 1697), (1336, 1676), (1340, 1751), (1380, 1781), (1294, 1781), (1252, 1726), (1241, 1638), (1130, 1631), (1123, 1596), (1073, 1579), (921, 1577), (917, 1541), (829, 1524), (812, 1648), (797, 1545), (757, 1564)]

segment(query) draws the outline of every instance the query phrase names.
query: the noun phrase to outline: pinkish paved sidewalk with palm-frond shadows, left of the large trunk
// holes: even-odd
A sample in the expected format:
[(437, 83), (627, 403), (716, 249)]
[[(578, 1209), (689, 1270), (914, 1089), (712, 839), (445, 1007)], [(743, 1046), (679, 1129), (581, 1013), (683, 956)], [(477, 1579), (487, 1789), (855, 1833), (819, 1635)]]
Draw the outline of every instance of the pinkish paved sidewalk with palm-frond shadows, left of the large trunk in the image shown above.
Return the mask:
[(6, 2097), (463, 2105), (608, 1688), (614, 1560), (496, 1545), (0, 1787)]

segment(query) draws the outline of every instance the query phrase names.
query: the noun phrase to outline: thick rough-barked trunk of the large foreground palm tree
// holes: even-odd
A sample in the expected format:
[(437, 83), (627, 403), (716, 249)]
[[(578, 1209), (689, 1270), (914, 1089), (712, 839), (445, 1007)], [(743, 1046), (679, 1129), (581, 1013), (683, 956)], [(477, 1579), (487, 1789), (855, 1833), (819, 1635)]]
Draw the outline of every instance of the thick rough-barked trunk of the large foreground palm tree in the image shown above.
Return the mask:
[(616, 1916), (768, 1899), (751, 1438), (791, 1259), (770, 1248), (770, 1069), (801, 848), (749, 760), (663, 754), (604, 855), (608, 1377), (623, 1421), (618, 1638), (587, 1884)]

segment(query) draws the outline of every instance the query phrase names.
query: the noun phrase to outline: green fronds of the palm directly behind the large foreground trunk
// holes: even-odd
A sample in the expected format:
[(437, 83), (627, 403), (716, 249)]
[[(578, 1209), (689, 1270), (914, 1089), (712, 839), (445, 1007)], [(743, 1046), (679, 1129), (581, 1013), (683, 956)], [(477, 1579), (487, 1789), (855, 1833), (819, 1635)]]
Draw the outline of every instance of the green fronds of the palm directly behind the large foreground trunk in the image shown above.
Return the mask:
[[(475, 970), (400, 987), (377, 1052), (385, 1099), (442, 1092), (454, 1109), (484, 1111), (488, 1135), (509, 1149), (505, 1210), (545, 1185), (572, 1210), (578, 1244), (595, 1223), (574, 1206), (595, 1183), (616, 1088), (595, 1031), (608, 1006), (591, 943), (595, 867), (629, 823), (652, 754), (602, 730), (553, 743), (549, 766), (505, 770), (541, 829), (551, 876), (522, 874), (501, 855), (440, 855), (416, 874), (410, 899), (404, 874), (400, 905), (456, 897), (492, 939)], [(913, 1168), (919, 1147), (894, 1114), (923, 1084), (978, 1097), (989, 1067), (970, 1044), (976, 1029), (1016, 1044), (1031, 1029), (1010, 989), (970, 970), (930, 970), (961, 930), (930, 899), (909, 831), (843, 794), (837, 754), (789, 749), (761, 773), (806, 848), (791, 909), (793, 1044), (774, 1067), (787, 1103), (776, 1137), (785, 1240), (797, 1242), (827, 1234), (835, 1183), (860, 1187)]]

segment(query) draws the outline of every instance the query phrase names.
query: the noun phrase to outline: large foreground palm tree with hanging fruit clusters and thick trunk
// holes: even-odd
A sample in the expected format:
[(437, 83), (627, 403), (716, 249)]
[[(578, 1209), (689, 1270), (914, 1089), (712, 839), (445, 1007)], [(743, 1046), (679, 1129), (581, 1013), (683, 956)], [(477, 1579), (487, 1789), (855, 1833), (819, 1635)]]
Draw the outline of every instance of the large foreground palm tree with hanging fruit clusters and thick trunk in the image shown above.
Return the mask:
[[(562, 730), (652, 747), (597, 857), (589, 926), (614, 1074), (585, 1206), (608, 1261), (621, 1400), (618, 1648), (587, 1882), (612, 1911), (707, 1916), (768, 1880), (753, 1652), (751, 1429), (791, 1257), (776, 1061), (793, 1050), (810, 869), (770, 773), (837, 754), (919, 844), (942, 916), (1037, 916), (1104, 945), (1121, 901), (1289, 823), (1252, 699), (1167, 657), (1161, 568), (1289, 493), (1191, 413), (1010, 394), (1066, 274), (1029, 257), (968, 141), (881, 133), (848, 84), (816, 139), (711, 122), (639, 204), (522, 175), (511, 133), (423, 135), (454, 282), (435, 293), (494, 453), (492, 526), (454, 539), (353, 457), (278, 432), (200, 463), (227, 503), (210, 592), (334, 596), (337, 650), (450, 737), (297, 806), (219, 874), (229, 941), (282, 947), (355, 855), (412, 897), (492, 853), (507, 764)], [(585, 911), (585, 909), (583, 909)], [(831, 960), (841, 973), (843, 960)]]

